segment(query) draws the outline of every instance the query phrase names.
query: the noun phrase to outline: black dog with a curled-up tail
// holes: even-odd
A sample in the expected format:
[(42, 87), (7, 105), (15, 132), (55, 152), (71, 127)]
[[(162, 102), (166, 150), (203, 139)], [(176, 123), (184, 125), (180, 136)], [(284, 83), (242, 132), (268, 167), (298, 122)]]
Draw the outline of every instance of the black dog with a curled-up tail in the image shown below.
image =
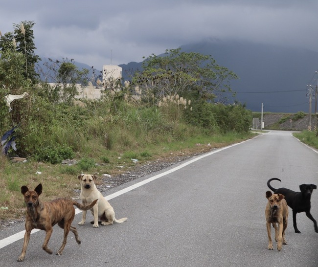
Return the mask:
[(267, 186), (273, 190), (275, 194), (282, 194), (285, 197), (285, 200), (287, 201), (287, 204), (292, 208), (293, 210), (293, 223), (294, 223), (294, 229), (295, 233), (299, 233), (300, 231), (297, 228), (297, 223), (296, 223), (296, 214), (298, 212), (306, 212), (307, 217), (314, 222), (314, 227), (316, 233), (318, 233), (318, 227), (317, 227), (317, 222), (313, 218), (313, 216), (310, 213), (310, 198), (311, 194), (314, 189), (317, 189), (317, 185), (315, 184), (301, 184), (299, 185), (300, 191), (301, 192), (295, 192), (293, 190), (287, 189), (287, 188), (278, 188), (275, 189), (271, 186), (270, 182), (272, 180), (277, 180), (280, 181), (278, 178), (271, 178), (267, 181)]

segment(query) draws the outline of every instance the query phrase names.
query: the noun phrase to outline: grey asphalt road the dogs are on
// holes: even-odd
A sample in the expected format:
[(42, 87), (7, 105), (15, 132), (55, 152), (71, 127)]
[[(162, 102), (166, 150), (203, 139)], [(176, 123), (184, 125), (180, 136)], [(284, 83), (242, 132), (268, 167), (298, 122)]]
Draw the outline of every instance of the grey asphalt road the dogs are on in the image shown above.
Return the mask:
[[(125, 223), (92, 228), (88, 213), (80, 226), (79, 213), (72, 225), (81, 245), (69, 233), (63, 255), (49, 255), (42, 250), (45, 232), (38, 231), (31, 235), (24, 262), (17, 262), (20, 239), (0, 248), (0, 266), (317, 267), (318, 233), (304, 213), (297, 214), (301, 234), (296, 234), (290, 210), (288, 245), (280, 252), (276, 244), (267, 250), (265, 221), (267, 180), (280, 178), (273, 187), (295, 191), (302, 183), (318, 185), (317, 163), (317, 152), (291, 132), (272, 131), (114, 188), (109, 193), (118, 196), (109, 201), (117, 219), (128, 217)], [(317, 190), (311, 213), (318, 220)], [(0, 246), (23, 227), (1, 231)], [(49, 247), (56, 252), (62, 239), (63, 231), (55, 226)]]

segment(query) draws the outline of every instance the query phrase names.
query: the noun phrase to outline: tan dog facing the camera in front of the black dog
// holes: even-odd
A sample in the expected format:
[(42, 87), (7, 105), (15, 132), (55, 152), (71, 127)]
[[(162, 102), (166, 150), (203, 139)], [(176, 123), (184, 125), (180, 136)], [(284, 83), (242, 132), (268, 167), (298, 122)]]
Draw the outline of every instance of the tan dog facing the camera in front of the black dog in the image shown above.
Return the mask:
[[(277, 249), (282, 249), (282, 244), (287, 245), (285, 240), (285, 230), (287, 228), (288, 220), (288, 206), (284, 195), (272, 194), (271, 191), (266, 192), (266, 198), (268, 199), (265, 209), (266, 226), (268, 234), (268, 247), (267, 249), (273, 249), (271, 223), (275, 228), (275, 241), (277, 241)], [(277, 228), (278, 224), (278, 228)]]

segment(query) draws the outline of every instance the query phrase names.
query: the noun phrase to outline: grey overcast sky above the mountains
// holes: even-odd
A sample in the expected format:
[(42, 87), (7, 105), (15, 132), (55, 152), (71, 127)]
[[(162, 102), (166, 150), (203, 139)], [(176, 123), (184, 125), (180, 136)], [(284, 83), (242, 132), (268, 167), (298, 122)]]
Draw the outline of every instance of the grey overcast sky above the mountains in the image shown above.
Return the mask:
[(318, 51), (317, 0), (1, 0), (1, 33), (21, 21), (40, 57), (97, 69), (211, 38)]

